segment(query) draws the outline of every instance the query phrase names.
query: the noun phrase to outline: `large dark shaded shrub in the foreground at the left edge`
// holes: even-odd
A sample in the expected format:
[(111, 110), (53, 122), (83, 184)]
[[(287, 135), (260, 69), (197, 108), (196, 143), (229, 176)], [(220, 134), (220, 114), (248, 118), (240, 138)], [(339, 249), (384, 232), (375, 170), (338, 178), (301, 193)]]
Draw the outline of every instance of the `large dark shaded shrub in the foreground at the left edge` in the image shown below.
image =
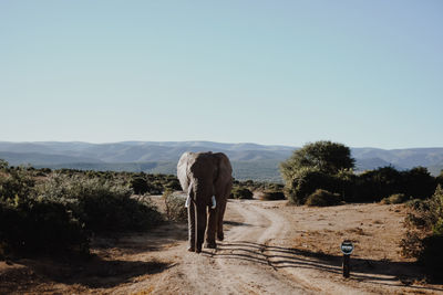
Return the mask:
[(0, 176), (0, 244), (19, 253), (89, 249), (84, 224), (56, 200), (37, 198), (24, 169)]

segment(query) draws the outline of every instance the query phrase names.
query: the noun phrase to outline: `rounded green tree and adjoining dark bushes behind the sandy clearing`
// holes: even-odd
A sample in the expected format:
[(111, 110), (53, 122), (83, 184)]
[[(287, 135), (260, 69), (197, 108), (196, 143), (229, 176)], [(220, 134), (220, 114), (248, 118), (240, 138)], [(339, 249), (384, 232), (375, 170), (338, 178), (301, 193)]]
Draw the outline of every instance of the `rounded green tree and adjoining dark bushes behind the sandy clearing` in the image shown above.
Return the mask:
[(398, 171), (393, 167), (354, 173), (349, 147), (331, 141), (308, 144), (281, 162), (285, 194), (293, 204), (305, 204), (318, 189), (339, 194), (343, 202), (404, 202), (429, 199), (442, 177), (426, 168)]

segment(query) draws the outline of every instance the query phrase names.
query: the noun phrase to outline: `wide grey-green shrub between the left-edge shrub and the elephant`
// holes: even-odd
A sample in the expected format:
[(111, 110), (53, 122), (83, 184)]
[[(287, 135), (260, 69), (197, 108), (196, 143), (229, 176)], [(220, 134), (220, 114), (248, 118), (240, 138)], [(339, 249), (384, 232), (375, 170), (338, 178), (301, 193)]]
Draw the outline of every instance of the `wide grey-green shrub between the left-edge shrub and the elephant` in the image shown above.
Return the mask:
[(146, 199), (131, 198), (133, 191), (115, 181), (55, 176), (40, 191), (41, 198), (66, 204), (96, 233), (148, 229), (162, 220)]

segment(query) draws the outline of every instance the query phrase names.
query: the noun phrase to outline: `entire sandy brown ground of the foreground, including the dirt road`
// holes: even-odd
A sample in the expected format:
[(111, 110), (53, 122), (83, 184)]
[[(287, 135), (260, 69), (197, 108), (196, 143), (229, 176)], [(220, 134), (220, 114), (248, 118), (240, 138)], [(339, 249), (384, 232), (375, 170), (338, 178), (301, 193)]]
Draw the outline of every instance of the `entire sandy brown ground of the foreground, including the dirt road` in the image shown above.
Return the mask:
[[(186, 224), (166, 224), (96, 239), (86, 262), (0, 262), (0, 294), (443, 294), (399, 254), (404, 215), (402, 206), (231, 200), (216, 250), (187, 252)], [(356, 245), (350, 278), (343, 240)]]

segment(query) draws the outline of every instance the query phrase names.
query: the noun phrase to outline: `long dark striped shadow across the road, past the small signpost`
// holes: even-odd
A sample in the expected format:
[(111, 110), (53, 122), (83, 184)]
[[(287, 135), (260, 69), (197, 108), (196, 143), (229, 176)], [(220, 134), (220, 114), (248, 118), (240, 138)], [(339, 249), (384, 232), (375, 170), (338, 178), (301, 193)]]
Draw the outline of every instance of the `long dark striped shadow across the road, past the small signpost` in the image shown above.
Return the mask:
[[(219, 243), (217, 251), (209, 253), (214, 259), (247, 261), (268, 265), (275, 271), (284, 268), (312, 268), (342, 275), (342, 256), (293, 247), (282, 247), (248, 241)], [(413, 262), (395, 262), (351, 256), (351, 278), (380, 285), (405, 287), (414, 281), (424, 281), (424, 270)], [(387, 281), (390, 281), (389, 283)], [(435, 282), (441, 283), (441, 282)], [(443, 292), (440, 286), (411, 286), (414, 289)]]

